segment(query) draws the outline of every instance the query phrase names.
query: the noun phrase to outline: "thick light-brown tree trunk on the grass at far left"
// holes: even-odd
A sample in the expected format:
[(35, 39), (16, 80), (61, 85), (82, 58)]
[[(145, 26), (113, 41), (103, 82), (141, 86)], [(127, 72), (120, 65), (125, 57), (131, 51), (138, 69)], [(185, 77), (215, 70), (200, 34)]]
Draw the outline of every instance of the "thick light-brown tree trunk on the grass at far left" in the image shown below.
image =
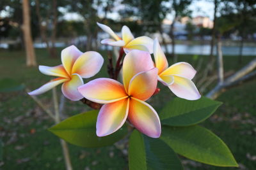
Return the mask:
[(24, 34), (24, 45), (26, 49), (26, 65), (27, 66), (36, 66), (36, 55), (35, 49), (33, 46), (33, 40), (31, 36), (30, 29), (30, 14), (29, 14), (29, 0), (23, 0), (22, 10), (23, 10), (23, 25), (22, 31)]

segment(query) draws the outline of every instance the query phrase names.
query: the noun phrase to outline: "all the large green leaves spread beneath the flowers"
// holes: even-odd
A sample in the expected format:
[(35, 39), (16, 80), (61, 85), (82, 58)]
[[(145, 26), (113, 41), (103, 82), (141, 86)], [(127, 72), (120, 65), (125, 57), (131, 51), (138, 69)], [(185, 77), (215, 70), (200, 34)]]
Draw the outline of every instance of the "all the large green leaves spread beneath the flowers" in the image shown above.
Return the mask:
[[(167, 103), (161, 112), (164, 126), (160, 139), (149, 138), (136, 130), (132, 132), (129, 168), (182, 169), (175, 152), (205, 164), (237, 166), (232, 153), (220, 138), (204, 127), (195, 125), (208, 118), (220, 105), (220, 102), (205, 97), (197, 101), (176, 98)], [(118, 132), (113, 134), (117, 137), (104, 137), (108, 138), (106, 141), (97, 137), (96, 113), (97, 111), (89, 111), (68, 118), (50, 131), (70, 143), (86, 147), (104, 146), (122, 138), (124, 133), (116, 135)]]

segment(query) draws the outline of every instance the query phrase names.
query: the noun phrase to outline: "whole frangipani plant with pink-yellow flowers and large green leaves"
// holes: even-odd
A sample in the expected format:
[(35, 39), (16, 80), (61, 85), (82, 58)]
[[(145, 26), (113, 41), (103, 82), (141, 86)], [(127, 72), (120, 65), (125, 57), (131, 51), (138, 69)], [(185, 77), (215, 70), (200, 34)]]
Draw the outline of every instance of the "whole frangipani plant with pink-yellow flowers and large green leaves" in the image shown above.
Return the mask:
[[(168, 67), (167, 59), (157, 39), (154, 45), (152, 42), (149, 45), (141, 41), (140, 45), (147, 46), (147, 50), (146, 48), (132, 50), (129, 43), (135, 39), (131, 40), (133, 36), (127, 34), (130, 35), (128, 36), (130, 40), (127, 40), (125, 32), (131, 33), (127, 27), (123, 27), (122, 39), (108, 26), (101, 24), (100, 27), (115, 38), (104, 40), (103, 43), (120, 46), (120, 51), (125, 48), (127, 54), (123, 59), (123, 54), (120, 53), (115, 69), (111, 67), (112, 59), (109, 57), (110, 78), (97, 78), (84, 85), (75, 83), (70, 87), (76, 89), (72, 92), (79, 93), (76, 99), (85, 97), (84, 100), (90, 103), (104, 105), (97, 105), (101, 106), (99, 110), (87, 111), (67, 118), (51, 127), (49, 131), (69, 143), (83, 147), (108, 146), (121, 139), (125, 142), (129, 139), (129, 169), (132, 170), (183, 169), (177, 154), (213, 166), (237, 167), (237, 162), (227, 145), (211, 131), (198, 125), (209, 118), (221, 103), (200, 96), (191, 81), (196, 74), (195, 69), (186, 62)], [(148, 49), (154, 49), (155, 64)], [(80, 62), (73, 71), (77, 60), (80, 60), (80, 57), (82, 60), (85, 53), (77, 54), (77, 50), (69, 50), (69, 52), (65, 55), (69, 57), (63, 57), (61, 54), (63, 67), (57, 66), (67, 72), (68, 78), (71, 76), (69, 81), (72, 81), (73, 74), (83, 78), (93, 76), (102, 66), (101, 56), (97, 55), (100, 57), (94, 60), (97, 68), (93, 69), (94, 72), (91, 71), (88, 75), (81, 71), (90, 66), (86, 64), (87, 62)], [(86, 59), (95, 56), (96, 52)], [(44, 67), (41, 67), (41, 71), (42, 68)], [(122, 83), (116, 81), (121, 68)], [(67, 77), (63, 77), (59, 72), (57, 74), (56, 71), (49, 71), (51, 69), (44, 70), (42, 73), (61, 75), (62, 79), (67, 80)], [(158, 91), (157, 80), (168, 86), (178, 97), (163, 103), (159, 110), (154, 110), (148, 102), (154, 102), (154, 94)], [(43, 89), (38, 91), (45, 92), (47, 88)], [(33, 93), (38, 94), (36, 91)], [(67, 96), (64, 92), (63, 94)], [(147, 101), (150, 97), (152, 100)], [(89, 106), (94, 109), (93, 104)]]

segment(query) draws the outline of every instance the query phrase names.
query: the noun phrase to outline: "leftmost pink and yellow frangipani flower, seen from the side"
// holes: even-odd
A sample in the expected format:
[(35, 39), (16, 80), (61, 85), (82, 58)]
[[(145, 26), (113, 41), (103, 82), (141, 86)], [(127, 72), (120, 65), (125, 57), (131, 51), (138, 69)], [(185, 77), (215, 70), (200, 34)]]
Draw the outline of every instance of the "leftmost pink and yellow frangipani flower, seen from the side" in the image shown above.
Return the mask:
[(63, 83), (61, 87), (63, 95), (72, 101), (78, 101), (83, 98), (77, 91), (77, 87), (84, 84), (82, 78), (90, 78), (97, 74), (104, 59), (97, 52), (82, 53), (72, 45), (61, 51), (61, 62), (61, 65), (55, 67), (39, 66), (41, 73), (58, 78), (28, 94), (31, 96), (42, 94)]

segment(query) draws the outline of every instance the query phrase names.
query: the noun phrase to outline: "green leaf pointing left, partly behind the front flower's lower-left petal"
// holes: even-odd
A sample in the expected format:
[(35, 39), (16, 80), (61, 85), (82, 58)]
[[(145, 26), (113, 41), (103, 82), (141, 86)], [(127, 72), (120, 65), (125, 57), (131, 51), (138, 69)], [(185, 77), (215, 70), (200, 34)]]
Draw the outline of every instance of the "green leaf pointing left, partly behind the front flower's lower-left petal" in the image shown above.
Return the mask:
[(67, 118), (49, 129), (56, 136), (68, 143), (87, 148), (112, 145), (124, 138), (127, 134), (127, 127), (123, 126), (115, 133), (98, 137), (96, 135), (96, 121), (99, 110), (88, 111), (73, 117)]

